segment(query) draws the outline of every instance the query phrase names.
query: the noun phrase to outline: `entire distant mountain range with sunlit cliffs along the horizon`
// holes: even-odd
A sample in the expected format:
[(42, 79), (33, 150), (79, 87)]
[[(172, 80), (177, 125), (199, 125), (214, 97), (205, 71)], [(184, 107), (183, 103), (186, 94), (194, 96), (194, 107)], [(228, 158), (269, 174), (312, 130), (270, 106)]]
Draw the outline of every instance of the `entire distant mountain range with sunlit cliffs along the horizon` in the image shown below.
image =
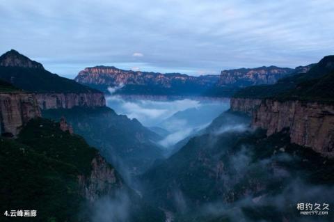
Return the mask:
[[(303, 67), (303, 69), (307, 69)], [(298, 71), (299, 70), (299, 71)], [(74, 79), (80, 84), (102, 90), (104, 93), (125, 95), (191, 95), (229, 97), (244, 86), (274, 84), (278, 79), (300, 72), (276, 66), (253, 69), (224, 70), (220, 75), (193, 77), (180, 73), (140, 72), (120, 70), (113, 66), (95, 66), (80, 71)]]

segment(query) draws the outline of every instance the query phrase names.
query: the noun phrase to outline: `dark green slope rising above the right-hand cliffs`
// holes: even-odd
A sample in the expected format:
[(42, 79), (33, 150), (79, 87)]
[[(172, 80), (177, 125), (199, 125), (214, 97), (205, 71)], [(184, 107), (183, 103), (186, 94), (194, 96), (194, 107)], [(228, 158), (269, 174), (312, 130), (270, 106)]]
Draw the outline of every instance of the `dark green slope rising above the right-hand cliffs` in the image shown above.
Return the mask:
[(294, 74), (273, 85), (247, 87), (233, 97), (333, 102), (333, 61), (334, 56), (326, 56), (307, 73)]

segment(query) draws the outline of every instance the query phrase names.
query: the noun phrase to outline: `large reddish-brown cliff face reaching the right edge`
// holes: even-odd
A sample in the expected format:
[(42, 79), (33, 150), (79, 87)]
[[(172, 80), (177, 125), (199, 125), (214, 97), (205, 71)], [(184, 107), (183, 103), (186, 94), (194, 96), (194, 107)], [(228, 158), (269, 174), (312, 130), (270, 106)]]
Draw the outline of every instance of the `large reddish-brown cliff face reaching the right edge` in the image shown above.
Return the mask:
[(334, 151), (334, 106), (318, 102), (264, 100), (253, 112), (253, 127), (271, 135), (289, 128), (291, 142), (321, 154)]

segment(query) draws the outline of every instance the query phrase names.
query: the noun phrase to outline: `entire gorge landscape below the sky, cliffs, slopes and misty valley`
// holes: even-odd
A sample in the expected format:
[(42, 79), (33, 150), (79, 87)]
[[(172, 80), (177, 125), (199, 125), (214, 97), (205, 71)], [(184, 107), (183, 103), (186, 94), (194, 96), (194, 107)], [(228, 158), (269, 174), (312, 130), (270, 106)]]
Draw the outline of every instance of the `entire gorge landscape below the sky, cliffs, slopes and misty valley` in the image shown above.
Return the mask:
[[(273, 215), (303, 221), (296, 203), (326, 203), (334, 194), (331, 56), (296, 69), (223, 71), (219, 78), (228, 75), (231, 85), (219, 87), (237, 90), (229, 98), (197, 92), (197, 86), (207, 87), (202, 92), (218, 87), (218, 77), (97, 67), (71, 81), (17, 51), (5, 55), (1, 166), (17, 175), (28, 166), (26, 187), (15, 185), (15, 194), (3, 195), (1, 201), (11, 203), (5, 207), (25, 206), (19, 196), (38, 190), (38, 181), (53, 184), (44, 188), (53, 198), (37, 192), (47, 207), (38, 198), (30, 203), (51, 221), (272, 221)], [(263, 82), (266, 73), (271, 81)], [(244, 85), (244, 78), (254, 82)], [(95, 89), (78, 83), (87, 79)], [(42, 82), (53, 86), (46, 90)], [(168, 90), (120, 93), (127, 84)], [(196, 93), (180, 93), (185, 86)], [(268, 89), (275, 90), (263, 96)], [(14, 180), (21, 179), (6, 182), (5, 193)], [(63, 203), (77, 213), (62, 209)], [(102, 214), (105, 209), (110, 213)]]

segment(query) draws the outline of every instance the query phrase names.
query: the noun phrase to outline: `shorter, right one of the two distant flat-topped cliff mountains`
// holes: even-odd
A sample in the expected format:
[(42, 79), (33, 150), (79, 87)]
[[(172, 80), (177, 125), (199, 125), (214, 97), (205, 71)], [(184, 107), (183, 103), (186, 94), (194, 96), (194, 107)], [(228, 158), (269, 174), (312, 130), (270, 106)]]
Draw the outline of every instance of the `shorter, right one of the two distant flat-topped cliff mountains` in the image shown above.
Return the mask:
[(294, 69), (279, 68), (276, 66), (223, 70), (217, 85), (244, 87), (259, 84), (275, 84), (278, 79), (292, 74), (292, 72), (294, 72)]

